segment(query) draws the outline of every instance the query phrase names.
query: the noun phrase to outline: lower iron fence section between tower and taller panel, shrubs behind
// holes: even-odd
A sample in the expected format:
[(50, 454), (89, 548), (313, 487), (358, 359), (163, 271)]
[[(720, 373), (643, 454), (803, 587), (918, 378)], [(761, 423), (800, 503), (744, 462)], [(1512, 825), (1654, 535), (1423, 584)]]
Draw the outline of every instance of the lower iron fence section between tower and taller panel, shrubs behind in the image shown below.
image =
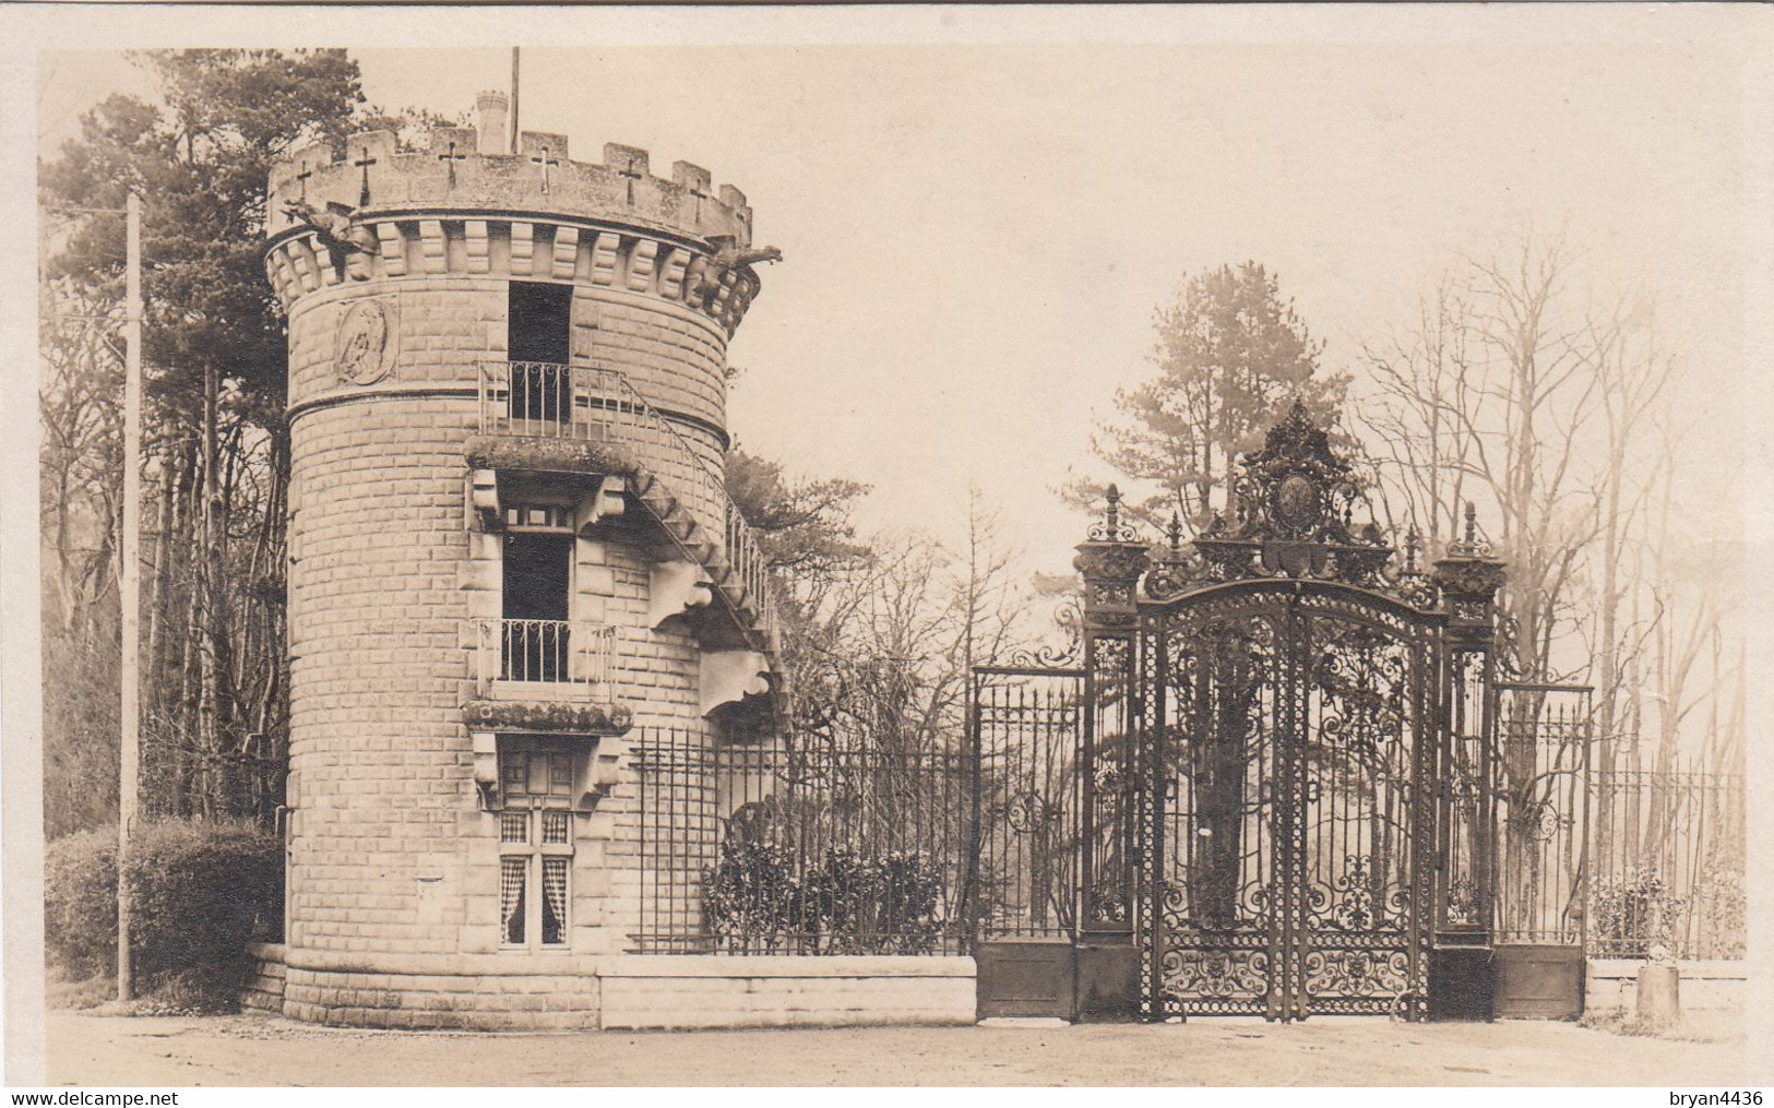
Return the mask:
[(640, 952), (960, 954), (963, 752), (644, 734)]

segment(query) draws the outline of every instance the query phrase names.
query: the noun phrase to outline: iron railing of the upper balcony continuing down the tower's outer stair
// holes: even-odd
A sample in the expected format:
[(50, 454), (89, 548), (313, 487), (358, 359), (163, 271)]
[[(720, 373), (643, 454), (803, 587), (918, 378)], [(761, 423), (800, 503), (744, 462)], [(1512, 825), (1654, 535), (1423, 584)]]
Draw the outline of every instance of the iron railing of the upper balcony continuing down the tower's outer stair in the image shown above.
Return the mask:
[[(770, 564), (745, 514), (727, 495), (720, 466), (699, 454), (621, 371), (553, 362), (483, 362), (479, 395), (483, 434), (626, 441), (662, 449), (671, 459), (669, 472), (658, 472), (655, 463), (649, 464), (653, 475), (665, 479), (676, 500), (710, 535), (720, 535), (720, 553), (733, 569), (742, 599), (752, 605), (757, 626), (766, 635), (775, 628)], [(710, 509), (718, 518), (708, 518)], [(672, 541), (701, 560), (681, 535), (672, 534)]]

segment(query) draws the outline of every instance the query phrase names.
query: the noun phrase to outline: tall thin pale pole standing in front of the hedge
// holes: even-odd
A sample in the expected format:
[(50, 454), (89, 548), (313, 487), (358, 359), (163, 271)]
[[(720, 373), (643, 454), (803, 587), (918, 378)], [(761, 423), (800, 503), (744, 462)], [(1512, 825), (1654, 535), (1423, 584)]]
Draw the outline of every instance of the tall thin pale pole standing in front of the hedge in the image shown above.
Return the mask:
[(133, 904), (124, 878), (124, 856), (135, 826), (140, 787), (140, 592), (142, 592), (142, 199), (130, 193), (124, 207), (128, 246), (124, 261), (124, 386), (122, 386), (122, 704), (117, 771), (117, 1000), (135, 996), (130, 959)]

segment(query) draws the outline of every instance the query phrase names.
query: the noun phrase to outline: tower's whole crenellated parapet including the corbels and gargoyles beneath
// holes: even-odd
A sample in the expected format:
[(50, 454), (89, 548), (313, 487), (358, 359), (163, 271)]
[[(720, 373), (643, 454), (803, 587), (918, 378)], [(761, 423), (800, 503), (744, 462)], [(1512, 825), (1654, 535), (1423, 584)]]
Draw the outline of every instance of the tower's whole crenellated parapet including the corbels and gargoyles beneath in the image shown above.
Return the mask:
[(568, 138), (523, 131), (518, 154), (481, 152), (475, 128), (436, 128), (403, 152), (392, 131), (339, 151), (316, 144), (271, 167), (266, 275), (287, 310), (349, 282), (403, 277), (571, 280), (656, 296), (731, 335), (761, 282), (752, 209), (710, 172), (605, 144), (603, 161), (568, 158)]

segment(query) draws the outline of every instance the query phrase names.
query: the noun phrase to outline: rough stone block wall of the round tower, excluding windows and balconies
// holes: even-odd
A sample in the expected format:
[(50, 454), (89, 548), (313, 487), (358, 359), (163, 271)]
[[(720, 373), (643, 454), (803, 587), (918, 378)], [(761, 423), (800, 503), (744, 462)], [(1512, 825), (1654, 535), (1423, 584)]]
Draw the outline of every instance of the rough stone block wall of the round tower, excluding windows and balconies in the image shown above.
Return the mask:
[[(477, 511), (472, 452), (509, 431), (511, 282), (571, 287), (577, 395), (612, 429), (585, 445), (720, 534), (726, 346), (757, 291), (736, 261), (745, 197), (687, 163), (656, 179), (635, 147), (607, 145), (601, 165), (568, 160), (561, 135), (525, 133), (516, 156), (477, 149), (465, 128), (422, 152), (378, 131), (271, 174), (266, 271), (289, 317), (296, 1018), (594, 1026), (596, 959), (635, 925), (637, 785), (617, 775), (571, 815), (569, 941), (502, 945), (500, 814), (483, 803), (488, 752), (465, 706), (484, 683), (475, 620), (500, 617), (500, 535)], [(646, 548), (578, 539), (573, 560), (571, 619), (623, 636), (621, 711), (706, 736), (699, 647), (655, 626)]]

